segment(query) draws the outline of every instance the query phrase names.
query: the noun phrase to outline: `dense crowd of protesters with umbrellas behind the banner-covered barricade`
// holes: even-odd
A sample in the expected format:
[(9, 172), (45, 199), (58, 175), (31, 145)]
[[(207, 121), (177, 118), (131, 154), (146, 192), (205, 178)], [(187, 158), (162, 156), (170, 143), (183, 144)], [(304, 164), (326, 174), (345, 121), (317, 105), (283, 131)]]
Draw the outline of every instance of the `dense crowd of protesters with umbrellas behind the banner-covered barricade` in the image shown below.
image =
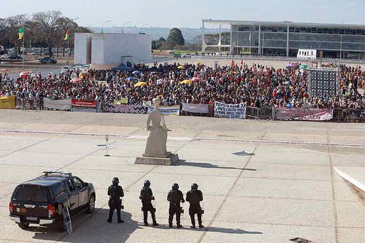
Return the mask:
[[(0, 96), (104, 102), (127, 98), (128, 104), (160, 97), (164, 105), (220, 101), (254, 107), (364, 109), (365, 71), (360, 66), (341, 65), (340, 95), (328, 97), (309, 96), (307, 72), (299, 68), (300, 63), (294, 64), (282, 69), (242, 62), (221, 67), (155, 63), (138, 64), (132, 71), (91, 69), (77, 82), (71, 81), (71, 72), (5, 82), (0, 85)], [(75, 72), (79, 77), (80, 71)], [(143, 83), (136, 85), (139, 82)]]

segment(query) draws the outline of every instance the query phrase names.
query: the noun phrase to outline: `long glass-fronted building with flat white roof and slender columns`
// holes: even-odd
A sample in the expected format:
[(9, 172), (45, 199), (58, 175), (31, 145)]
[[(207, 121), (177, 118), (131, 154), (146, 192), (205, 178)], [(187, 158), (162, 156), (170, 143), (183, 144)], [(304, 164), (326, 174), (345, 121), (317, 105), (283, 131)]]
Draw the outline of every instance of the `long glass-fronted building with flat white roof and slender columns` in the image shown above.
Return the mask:
[[(204, 35), (204, 24), (220, 26), (219, 39)], [(222, 26), (230, 30), (222, 32)], [(296, 57), (298, 49), (315, 49), (324, 58), (364, 59), (365, 27), (360, 24), (325, 24), (271, 21), (203, 20), (202, 52), (231, 55)]]

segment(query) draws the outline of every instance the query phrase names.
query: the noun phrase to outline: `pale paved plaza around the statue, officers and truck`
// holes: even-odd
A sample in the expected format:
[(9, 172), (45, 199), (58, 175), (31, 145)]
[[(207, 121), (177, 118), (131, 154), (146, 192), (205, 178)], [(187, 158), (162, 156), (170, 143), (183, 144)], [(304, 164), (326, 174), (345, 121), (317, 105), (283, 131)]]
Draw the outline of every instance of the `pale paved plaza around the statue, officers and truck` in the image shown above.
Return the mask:
[[(146, 115), (0, 110), (0, 243), (365, 243), (364, 200), (333, 166), (364, 169), (364, 123), (166, 117), (174, 166), (134, 164), (144, 152)], [(111, 157), (97, 144), (110, 135)], [(254, 155), (237, 156), (245, 151)], [(73, 233), (20, 229), (8, 218), (14, 187), (43, 170), (70, 171), (96, 188), (96, 210)], [(107, 223), (107, 187), (119, 177), (122, 218)], [(138, 199), (152, 182), (157, 227)], [(203, 229), (168, 227), (167, 192), (178, 182), (203, 191)], [(150, 219), (150, 218), (149, 218)]]

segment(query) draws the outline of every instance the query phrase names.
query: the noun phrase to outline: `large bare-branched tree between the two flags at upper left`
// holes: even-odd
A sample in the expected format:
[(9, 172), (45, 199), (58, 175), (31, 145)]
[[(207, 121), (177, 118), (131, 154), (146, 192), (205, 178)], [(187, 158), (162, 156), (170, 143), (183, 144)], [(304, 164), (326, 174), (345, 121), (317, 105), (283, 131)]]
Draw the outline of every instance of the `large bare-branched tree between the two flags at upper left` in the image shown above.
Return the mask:
[(55, 41), (57, 30), (59, 30), (61, 11), (38, 12), (33, 14), (32, 21), (36, 28), (43, 32), (48, 46), (48, 52), (52, 53), (52, 44)]

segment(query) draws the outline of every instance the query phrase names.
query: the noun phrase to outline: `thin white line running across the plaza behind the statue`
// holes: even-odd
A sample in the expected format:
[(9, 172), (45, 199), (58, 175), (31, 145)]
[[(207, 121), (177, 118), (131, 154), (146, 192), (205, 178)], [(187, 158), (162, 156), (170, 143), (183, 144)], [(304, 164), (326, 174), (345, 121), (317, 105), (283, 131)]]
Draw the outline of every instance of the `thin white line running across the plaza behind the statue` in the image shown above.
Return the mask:
[[(32, 134), (47, 134), (47, 135), (72, 135), (72, 136), (105, 136), (105, 133), (77, 133), (77, 132), (50, 132), (50, 131), (35, 131), (35, 130), (11, 130), (0, 129), (3, 133), (32, 133)], [(124, 134), (109, 134), (110, 137), (126, 138), (126, 139), (146, 139), (147, 136), (140, 135), (124, 135)], [(365, 147), (364, 144), (351, 143), (327, 143), (327, 142), (304, 142), (304, 141), (284, 141), (284, 140), (246, 140), (246, 139), (221, 139), (221, 138), (186, 138), (186, 137), (168, 137), (168, 140), (173, 141), (220, 141), (220, 142), (249, 142), (249, 143), (278, 143), (278, 144), (304, 144), (304, 145), (331, 145), (343, 147)]]

